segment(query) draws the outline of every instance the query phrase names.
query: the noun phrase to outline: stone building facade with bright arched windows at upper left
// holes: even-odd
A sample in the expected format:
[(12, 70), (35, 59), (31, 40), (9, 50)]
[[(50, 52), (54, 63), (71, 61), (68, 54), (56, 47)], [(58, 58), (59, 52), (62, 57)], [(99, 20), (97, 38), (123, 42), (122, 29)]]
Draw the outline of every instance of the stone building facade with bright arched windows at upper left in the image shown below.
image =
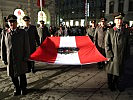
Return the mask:
[(4, 27), (6, 16), (16, 14), (20, 22), (21, 17), (28, 15), (31, 17), (31, 23), (37, 25), (39, 16), (45, 16), (47, 26), (56, 26), (55, 0), (45, 0), (45, 5), (42, 7), (43, 13), (39, 15), (40, 10), (37, 0), (0, 0), (0, 25)]

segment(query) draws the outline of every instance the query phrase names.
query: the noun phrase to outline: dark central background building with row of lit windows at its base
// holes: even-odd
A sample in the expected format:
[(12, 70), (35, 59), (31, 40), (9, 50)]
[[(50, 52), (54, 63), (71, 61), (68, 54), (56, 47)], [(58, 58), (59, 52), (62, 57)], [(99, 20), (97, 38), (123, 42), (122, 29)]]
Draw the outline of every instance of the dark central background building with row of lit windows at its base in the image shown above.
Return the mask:
[(106, 0), (55, 0), (59, 23), (84, 26), (104, 16)]

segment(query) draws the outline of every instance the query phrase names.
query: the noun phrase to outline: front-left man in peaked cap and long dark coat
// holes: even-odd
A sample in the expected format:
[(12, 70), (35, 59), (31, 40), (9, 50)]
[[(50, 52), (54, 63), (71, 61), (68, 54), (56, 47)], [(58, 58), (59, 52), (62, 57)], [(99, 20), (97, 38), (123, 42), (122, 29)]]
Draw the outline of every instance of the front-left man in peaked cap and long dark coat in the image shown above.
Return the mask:
[(17, 27), (17, 17), (7, 17), (9, 29), (2, 32), (1, 59), (14, 84), (14, 96), (27, 94), (26, 67), (30, 55), (29, 38), (25, 30)]

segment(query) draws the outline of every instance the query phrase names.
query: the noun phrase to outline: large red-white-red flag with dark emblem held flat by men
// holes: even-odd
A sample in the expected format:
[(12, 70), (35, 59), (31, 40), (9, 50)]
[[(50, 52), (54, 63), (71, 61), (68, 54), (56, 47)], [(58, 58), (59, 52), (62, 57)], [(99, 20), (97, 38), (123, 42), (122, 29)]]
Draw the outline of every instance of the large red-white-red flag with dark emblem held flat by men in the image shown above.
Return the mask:
[(30, 59), (63, 65), (92, 64), (107, 60), (88, 36), (47, 37)]

